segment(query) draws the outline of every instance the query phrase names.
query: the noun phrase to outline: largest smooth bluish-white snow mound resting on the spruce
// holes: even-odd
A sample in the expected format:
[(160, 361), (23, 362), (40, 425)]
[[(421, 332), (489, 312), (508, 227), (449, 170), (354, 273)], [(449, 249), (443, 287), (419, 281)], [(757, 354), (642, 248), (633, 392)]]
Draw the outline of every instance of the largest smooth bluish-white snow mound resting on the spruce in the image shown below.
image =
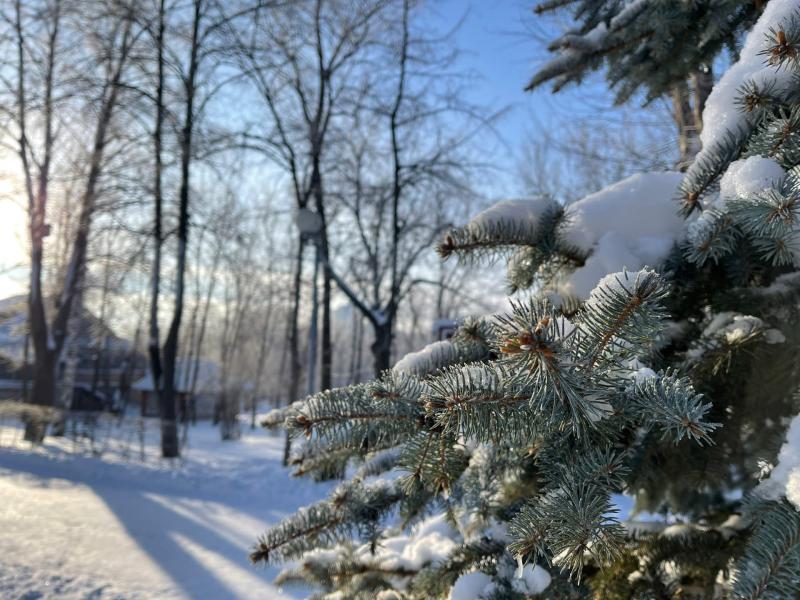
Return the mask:
[(585, 300), (608, 273), (663, 262), (685, 225), (675, 202), (681, 178), (639, 173), (570, 204), (559, 234), (589, 257), (556, 291)]

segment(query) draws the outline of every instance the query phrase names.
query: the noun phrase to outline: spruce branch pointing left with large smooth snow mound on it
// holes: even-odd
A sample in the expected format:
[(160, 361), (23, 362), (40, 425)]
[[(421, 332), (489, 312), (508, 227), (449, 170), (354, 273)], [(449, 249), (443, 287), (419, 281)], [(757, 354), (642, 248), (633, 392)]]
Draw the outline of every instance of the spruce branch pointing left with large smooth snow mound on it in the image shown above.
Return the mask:
[[(685, 225), (675, 210), (681, 180), (673, 172), (636, 174), (556, 212), (549, 199), (501, 201), (453, 230), (439, 250), (462, 260), (510, 254), (512, 292), (538, 284), (563, 302), (579, 303), (609, 272), (661, 264), (668, 257)], [(648, 217), (637, 218), (640, 213)], [(517, 230), (526, 232), (514, 238), (518, 243), (500, 243)], [(450, 244), (457, 238), (464, 241), (461, 251)]]

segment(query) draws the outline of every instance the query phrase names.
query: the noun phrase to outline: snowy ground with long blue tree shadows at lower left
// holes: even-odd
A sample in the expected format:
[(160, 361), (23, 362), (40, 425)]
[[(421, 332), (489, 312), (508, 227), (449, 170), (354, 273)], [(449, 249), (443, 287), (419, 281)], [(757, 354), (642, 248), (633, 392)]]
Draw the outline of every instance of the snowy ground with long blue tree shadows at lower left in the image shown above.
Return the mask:
[(0, 428), (0, 598), (299, 598), (249, 564), (269, 525), (330, 485), (280, 466), (283, 438), (190, 429), (185, 459), (158, 458), (157, 431), (110, 428), (100, 458), (67, 440), (31, 450)]

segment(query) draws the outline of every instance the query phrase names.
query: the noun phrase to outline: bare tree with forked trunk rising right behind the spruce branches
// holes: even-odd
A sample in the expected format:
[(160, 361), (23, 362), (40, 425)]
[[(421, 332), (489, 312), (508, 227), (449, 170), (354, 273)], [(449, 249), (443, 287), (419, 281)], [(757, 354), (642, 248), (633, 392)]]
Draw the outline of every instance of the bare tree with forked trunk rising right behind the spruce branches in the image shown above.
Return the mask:
[(347, 223), (358, 232), (357, 243), (345, 244), (357, 248), (348, 269), (354, 285), (339, 287), (372, 326), (376, 375), (391, 365), (402, 301), (423, 282), (414, 268), (450, 225), (443, 207), (453, 198), (464, 207), (473, 195), (477, 164), (467, 147), (491, 122), (460, 99), (450, 71), (455, 54), (444, 40), (414, 31), (415, 3), (397, 5), (393, 35), (377, 55), (380, 81), (364, 90), (339, 138), (336, 180)]

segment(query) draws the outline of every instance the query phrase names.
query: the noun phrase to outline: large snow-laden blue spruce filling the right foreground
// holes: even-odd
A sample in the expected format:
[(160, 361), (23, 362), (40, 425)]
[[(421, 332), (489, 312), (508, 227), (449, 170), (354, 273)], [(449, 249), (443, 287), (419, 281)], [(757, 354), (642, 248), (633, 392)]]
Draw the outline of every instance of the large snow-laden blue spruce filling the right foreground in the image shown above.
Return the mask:
[(297, 474), (347, 479), (252, 559), (320, 598), (796, 598), (799, 53), (772, 0), (686, 174), (450, 231), (511, 310), (271, 413)]

